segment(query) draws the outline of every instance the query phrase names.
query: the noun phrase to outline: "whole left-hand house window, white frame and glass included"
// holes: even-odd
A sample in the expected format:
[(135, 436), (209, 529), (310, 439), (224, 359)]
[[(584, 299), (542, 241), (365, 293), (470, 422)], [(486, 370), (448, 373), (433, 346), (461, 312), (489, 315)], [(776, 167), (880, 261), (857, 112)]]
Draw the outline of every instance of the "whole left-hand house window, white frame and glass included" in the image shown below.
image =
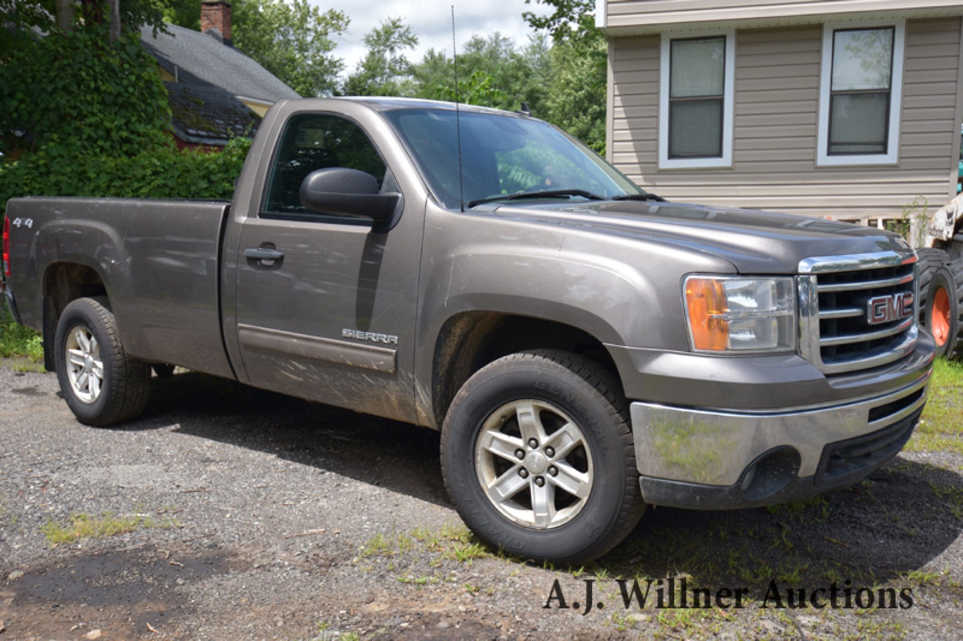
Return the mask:
[(734, 59), (732, 32), (663, 34), (661, 168), (732, 165)]

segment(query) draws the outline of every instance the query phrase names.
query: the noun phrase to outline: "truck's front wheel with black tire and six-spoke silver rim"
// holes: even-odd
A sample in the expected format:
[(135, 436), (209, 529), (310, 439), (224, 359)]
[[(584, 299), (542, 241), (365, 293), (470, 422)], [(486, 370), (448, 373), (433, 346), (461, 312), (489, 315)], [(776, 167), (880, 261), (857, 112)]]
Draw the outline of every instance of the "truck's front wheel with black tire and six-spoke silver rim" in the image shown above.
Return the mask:
[[(547, 437), (533, 447), (532, 434)], [(562, 451), (576, 441), (579, 446)], [(497, 445), (501, 453), (483, 444)], [(617, 378), (565, 351), (511, 354), (469, 378), (442, 428), (441, 467), (458, 514), (472, 531), (527, 559), (584, 564), (618, 545), (645, 510), (628, 404)], [(494, 479), (492, 487), (520, 489), (496, 503), (483, 485)], [(539, 510), (539, 517), (533, 502), (546, 495), (554, 497), (549, 502), (555, 511)]]

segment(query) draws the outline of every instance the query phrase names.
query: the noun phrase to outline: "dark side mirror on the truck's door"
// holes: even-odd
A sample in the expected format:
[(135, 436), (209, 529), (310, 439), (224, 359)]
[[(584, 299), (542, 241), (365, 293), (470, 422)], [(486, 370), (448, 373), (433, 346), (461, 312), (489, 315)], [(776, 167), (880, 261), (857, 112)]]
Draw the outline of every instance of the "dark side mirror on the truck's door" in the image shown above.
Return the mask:
[(377, 180), (370, 173), (346, 167), (312, 171), (300, 188), (301, 205), (309, 211), (375, 222), (394, 218), (401, 199), (401, 193), (379, 192)]

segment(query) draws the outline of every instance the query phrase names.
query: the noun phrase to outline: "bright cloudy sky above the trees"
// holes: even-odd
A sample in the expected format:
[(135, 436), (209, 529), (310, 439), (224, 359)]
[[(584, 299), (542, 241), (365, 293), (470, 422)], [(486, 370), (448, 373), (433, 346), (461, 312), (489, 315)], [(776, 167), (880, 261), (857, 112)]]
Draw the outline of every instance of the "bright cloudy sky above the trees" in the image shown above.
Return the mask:
[(311, 0), (325, 9), (340, 9), (351, 18), (348, 31), (341, 38), (334, 54), (345, 60), (346, 69), (352, 70), (365, 54), (361, 38), (388, 17), (402, 17), (418, 36), (417, 49), (408, 54), (412, 61), (421, 60), (422, 54), (435, 48), (451, 54), (452, 51), (452, 4), (455, 4), (455, 21), (458, 47), (473, 34), (487, 35), (493, 32), (512, 38), (519, 44), (528, 42), (529, 28), (522, 19), (522, 12), (549, 13), (543, 5), (526, 5), (525, 0)]

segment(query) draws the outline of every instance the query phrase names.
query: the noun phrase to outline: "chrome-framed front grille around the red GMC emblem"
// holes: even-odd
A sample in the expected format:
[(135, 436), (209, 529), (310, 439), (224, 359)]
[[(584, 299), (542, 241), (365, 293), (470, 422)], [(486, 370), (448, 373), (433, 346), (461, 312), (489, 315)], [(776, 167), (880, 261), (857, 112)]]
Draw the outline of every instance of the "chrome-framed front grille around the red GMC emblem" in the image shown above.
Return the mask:
[[(840, 373), (879, 367), (911, 352), (919, 333), (915, 263), (908, 252), (802, 261), (802, 355), (822, 372)], [(902, 295), (912, 314), (871, 323), (871, 299), (893, 295)]]

